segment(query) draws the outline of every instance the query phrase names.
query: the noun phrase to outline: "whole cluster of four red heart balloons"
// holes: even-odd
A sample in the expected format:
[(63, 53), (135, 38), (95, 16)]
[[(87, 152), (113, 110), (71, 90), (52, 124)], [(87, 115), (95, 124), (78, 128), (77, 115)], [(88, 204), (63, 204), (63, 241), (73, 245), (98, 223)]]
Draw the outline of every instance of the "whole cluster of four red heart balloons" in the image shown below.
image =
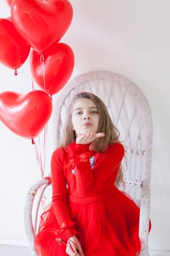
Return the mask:
[(0, 18), (0, 62), (17, 69), (30, 58), (40, 87), (28, 94), (0, 94), (0, 120), (13, 132), (33, 140), (52, 113), (52, 95), (72, 75), (74, 53), (60, 42), (72, 22), (69, 0), (7, 0), (11, 17)]

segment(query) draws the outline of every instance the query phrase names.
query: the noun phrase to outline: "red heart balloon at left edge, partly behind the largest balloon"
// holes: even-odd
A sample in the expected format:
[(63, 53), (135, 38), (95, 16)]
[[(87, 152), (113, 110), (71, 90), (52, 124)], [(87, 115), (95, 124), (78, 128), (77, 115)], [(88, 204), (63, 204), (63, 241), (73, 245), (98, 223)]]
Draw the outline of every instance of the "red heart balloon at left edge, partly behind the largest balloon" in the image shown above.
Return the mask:
[(18, 69), (28, 58), (30, 45), (15, 29), (12, 21), (0, 18), (0, 62)]

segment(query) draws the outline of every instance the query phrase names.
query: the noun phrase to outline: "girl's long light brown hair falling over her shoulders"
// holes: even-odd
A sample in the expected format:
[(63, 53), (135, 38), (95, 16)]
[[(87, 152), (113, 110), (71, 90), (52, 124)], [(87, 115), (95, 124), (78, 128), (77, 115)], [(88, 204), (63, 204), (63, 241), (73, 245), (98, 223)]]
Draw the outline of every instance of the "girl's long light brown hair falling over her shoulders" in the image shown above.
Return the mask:
[[(98, 109), (99, 123), (97, 132), (104, 132), (105, 136), (96, 139), (93, 143), (93, 148), (98, 152), (102, 152), (107, 149), (110, 143), (120, 143), (120, 132), (118, 131), (117, 127), (115, 127), (115, 125), (113, 124), (104, 102), (95, 94), (89, 92), (82, 92), (80, 94), (77, 94), (72, 100), (72, 104), (69, 108), (69, 113), (67, 115), (66, 126), (63, 132), (63, 140), (61, 141), (61, 147), (64, 148), (68, 146), (70, 143), (72, 143), (74, 140), (76, 140), (76, 135), (72, 127), (72, 108), (74, 106), (74, 102), (77, 99), (90, 99)], [(117, 173), (115, 184), (118, 186), (120, 182), (123, 182), (123, 171), (121, 167)]]

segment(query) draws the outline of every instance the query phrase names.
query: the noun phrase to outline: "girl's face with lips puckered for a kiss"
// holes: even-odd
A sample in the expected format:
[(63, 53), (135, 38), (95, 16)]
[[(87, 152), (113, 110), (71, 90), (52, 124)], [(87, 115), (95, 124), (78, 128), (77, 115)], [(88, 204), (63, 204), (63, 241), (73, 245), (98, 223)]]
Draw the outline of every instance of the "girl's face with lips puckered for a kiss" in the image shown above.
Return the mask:
[(76, 136), (98, 130), (98, 109), (90, 99), (76, 99), (72, 110), (72, 126)]

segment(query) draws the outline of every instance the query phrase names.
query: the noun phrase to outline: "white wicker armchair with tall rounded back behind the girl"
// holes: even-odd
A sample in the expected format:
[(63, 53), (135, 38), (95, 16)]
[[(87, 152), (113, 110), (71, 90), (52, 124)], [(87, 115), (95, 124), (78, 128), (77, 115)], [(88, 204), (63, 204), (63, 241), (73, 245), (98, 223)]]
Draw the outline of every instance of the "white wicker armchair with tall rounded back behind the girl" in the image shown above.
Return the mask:
[[(62, 136), (66, 112), (72, 97), (80, 91), (98, 95), (109, 110), (114, 124), (120, 130), (125, 145), (123, 159), (125, 192), (140, 206), (139, 237), (142, 241), (140, 256), (148, 253), (148, 226), (150, 219), (150, 172), (152, 157), (152, 116), (142, 91), (128, 78), (114, 72), (88, 72), (74, 78), (56, 95), (53, 112), (54, 145)], [(39, 219), (39, 206), (50, 180), (38, 181), (28, 192), (24, 209), (26, 236), (34, 252), (34, 236)], [(40, 189), (41, 188), (41, 189)], [(36, 198), (37, 197), (37, 198)], [(35, 203), (36, 200), (36, 203)], [(36, 204), (36, 206), (35, 206)]]

